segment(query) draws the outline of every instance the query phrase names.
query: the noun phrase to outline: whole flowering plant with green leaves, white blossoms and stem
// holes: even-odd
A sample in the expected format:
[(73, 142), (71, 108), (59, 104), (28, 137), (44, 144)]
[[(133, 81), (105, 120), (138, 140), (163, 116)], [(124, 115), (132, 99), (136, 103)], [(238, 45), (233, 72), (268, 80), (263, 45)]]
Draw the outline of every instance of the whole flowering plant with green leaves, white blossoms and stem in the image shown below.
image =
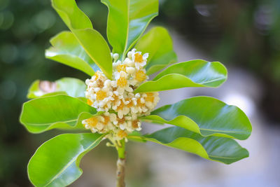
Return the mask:
[[(104, 139), (118, 151), (117, 186), (125, 186), (125, 143), (130, 140), (153, 141), (225, 164), (248, 157), (248, 151), (234, 139), (247, 139), (251, 123), (236, 106), (212, 97), (193, 97), (153, 110), (159, 91), (218, 87), (227, 78), (223, 64), (204, 60), (174, 64), (176, 53), (165, 28), (153, 27), (143, 35), (158, 15), (158, 0), (102, 3), (109, 8), (107, 37), (112, 53), (74, 0), (52, 0), (70, 32), (53, 37), (45, 56), (90, 78), (85, 83), (76, 78), (35, 81), (20, 122), (32, 133), (52, 129), (91, 132), (61, 134), (41, 145), (29, 161), (31, 183), (69, 185), (82, 174), (79, 162), (83, 155)], [(174, 127), (142, 135), (141, 121)]]

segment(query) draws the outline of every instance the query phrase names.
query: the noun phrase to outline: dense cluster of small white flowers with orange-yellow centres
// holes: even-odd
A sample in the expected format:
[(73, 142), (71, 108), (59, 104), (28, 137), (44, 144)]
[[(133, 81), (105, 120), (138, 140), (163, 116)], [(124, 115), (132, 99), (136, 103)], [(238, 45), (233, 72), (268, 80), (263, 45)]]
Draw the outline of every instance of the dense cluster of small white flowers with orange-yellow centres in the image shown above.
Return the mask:
[(141, 52), (133, 49), (123, 62), (118, 57), (117, 53), (112, 54), (113, 80), (106, 78), (102, 71), (97, 71), (85, 81), (87, 104), (104, 113), (83, 120), (83, 125), (92, 132), (111, 132), (111, 137), (120, 140), (127, 133), (141, 130), (137, 118), (149, 115), (159, 97), (158, 92), (134, 93), (148, 79), (144, 69), (148, 53), (141, 55)]

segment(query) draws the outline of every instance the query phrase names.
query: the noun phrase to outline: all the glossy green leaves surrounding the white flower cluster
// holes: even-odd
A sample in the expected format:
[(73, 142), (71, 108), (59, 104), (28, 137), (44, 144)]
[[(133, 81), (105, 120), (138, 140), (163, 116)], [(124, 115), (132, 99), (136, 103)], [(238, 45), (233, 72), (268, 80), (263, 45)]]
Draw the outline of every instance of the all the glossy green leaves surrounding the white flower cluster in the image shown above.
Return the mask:
[[(114, 53), (119, 53), (124, 59), (127, 51), (135, 44), (143, 52), (151, 53), (146, 65), (148, 74), (176, 62), (176, 54), (166, 29), (154, 27), (142, 36), (148, 23), (158, 15), (158, 0), (102, 2), (109, 8), (107, 37)], [(45, 56), (84, 71), (89, 76), (93, 76), (95, 70), (101, 69), (108, 78), (112, 78), (109, 45), (92, 27), (90, 19), (80, 11), (76, 2), (52, 0), (52, 7), (70, 32), (61, 32), (52, 38), (52, 47), (46, 50)], [(140, 85), (136, 92), (183, 87), (215, 88), (226, 78), (227, 70), (220, 62), (193, 60), (167, 67), (153, 81)], [(80, 130), (81, 120), (102, 114), (85, 103), (80, 94), (85, 91), (85, 87), (74, 78), (56, 81), (52, 92), (43, 92), (39, 83), (36, 81), (31, 85), (29, 98), (36, 98), (23, 105), (20, 116), (20, 122), (29, 132), (39, 133), (54, 128)], [(78, 89), (76, 92), (72, 90), (73, 85)], [(248, 157), (248, 151), (234, 140), (246, 139), (251, 134), (248, 118), (236, 106), (228, 106), (218, 99), (185, 99), (176, 104), (162, 106), (153, 111), (151, 116), (144, 116), (141, 120), (169, 123), (179, 127), (166, 128), (153, 134), (132, 133), (128, 135), (129, 139), (153, 141), (225, 164)], [(62, 134), (45, 142), (29, 162), (30, 181), (34, 186), (69, 185), (81, 174), (78, 164), (82, 156), (97, 146), (105, 135)], [(124, 153), (120, 154), (120, 149), (124, 151), (124, 140), (121, 145), (115, 146), (123, 158)]]

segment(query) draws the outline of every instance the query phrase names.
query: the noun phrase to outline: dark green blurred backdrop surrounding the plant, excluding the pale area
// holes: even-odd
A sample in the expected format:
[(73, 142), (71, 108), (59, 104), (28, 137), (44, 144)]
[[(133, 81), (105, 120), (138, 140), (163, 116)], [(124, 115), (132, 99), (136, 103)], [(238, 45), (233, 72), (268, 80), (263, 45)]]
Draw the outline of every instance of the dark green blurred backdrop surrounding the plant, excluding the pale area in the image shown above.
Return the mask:
[[(77, 2), (94, 28), (106, 37), (106, 6), (99, 0)], [(258, 109), (269, 121), (279, 123), (279, 10), (279, 0), (162, 0), (153, 24), (181, 34), (211, 59), (253, 74), (263, 85)], [(87, 78), (80, 71), (45, 59), (48, 40), (63, 30), (66, 26), (49, 0), (0, 0), (0, 186), (31, 186), (27, 179), (29, 158), (43, 141), (58, 134), (29, 134), (18, 122), (31, 82), (64, 76)], [(99, 151), (109, 153), (109, 160), (114, 161), (113, 150)], [(148, 183), (148, 171), (130, 175), (132, 180)]]

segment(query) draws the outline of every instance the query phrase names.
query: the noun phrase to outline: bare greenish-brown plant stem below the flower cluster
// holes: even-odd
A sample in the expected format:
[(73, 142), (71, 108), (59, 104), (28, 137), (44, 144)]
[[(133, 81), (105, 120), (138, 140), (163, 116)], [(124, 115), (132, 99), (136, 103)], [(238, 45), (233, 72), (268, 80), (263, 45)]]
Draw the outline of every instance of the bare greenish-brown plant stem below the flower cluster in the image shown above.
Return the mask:
[(117, 146), (118, 161), (117, 161), (117, 187), (125, 187), (125, 140), (120, 141), (120, 146)]

